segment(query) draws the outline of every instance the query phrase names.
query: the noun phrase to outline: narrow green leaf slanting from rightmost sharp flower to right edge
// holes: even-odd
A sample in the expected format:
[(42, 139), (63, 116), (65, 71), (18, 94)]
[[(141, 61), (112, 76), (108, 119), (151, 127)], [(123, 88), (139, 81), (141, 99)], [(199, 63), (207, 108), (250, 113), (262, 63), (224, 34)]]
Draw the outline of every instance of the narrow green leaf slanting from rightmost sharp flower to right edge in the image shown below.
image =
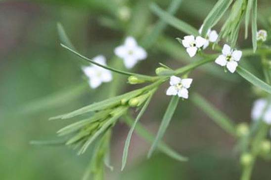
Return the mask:
[(237, 72), (239, 75), (241, 75), (243, 78), (245, 78), (247, 81), (249, 81), (254, 86), (257, 86), (261, 88), (262, 90), (268, 92), (271, 94), (271, 86), (253, 75), (252, 73), (248, 72), (247, 70), (243, 69), (242, 67), (237, 67)]

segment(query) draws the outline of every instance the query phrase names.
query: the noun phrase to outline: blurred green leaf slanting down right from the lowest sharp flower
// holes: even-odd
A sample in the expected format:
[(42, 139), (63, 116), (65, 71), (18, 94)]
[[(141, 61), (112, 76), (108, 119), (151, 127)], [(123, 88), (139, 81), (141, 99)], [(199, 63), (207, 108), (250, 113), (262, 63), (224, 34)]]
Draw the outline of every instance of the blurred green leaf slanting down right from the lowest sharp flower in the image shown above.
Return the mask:
[(234, 123), (223, 112), (211, 105), (197, 93), (190, 95), (190, 100), (194, 103), (194, 105), (204, 111), (222, 129), (224, 129), (227, 133), (235, 136)]

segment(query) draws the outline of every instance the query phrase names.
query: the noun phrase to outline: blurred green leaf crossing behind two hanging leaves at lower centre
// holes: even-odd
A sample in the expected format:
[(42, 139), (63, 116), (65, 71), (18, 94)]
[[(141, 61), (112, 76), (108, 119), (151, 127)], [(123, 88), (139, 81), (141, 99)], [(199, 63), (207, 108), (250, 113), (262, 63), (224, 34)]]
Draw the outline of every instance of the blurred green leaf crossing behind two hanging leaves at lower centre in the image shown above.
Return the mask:
[[(134, 124), (134, 119), (131, 116), (125, 116), (125, 122), (132, 127)], [(146, 130), (141, 124), (140, 122), (137, 123), (136, 127), (135, 127), (135, 132), (138, 136), (140, 136), (141, 138), (143, 138), (144, 140), (146, 140), (147, 142), (151, 143), (154, 141), (155, 137), (150, 134), (148, 132), (148, 130)], [(188, 158), (184, 157), (182, 155), (180, 155), (178, 152), (176, 152), (175, 150), (173, 150), (171, 147), (169, 147), (167, 144), (160, 142), (158, 144), (158, 149), (165, 153), (166, 155), (168, 155), (169, 157), (176, 159), (178, 161), (187, 161)]]

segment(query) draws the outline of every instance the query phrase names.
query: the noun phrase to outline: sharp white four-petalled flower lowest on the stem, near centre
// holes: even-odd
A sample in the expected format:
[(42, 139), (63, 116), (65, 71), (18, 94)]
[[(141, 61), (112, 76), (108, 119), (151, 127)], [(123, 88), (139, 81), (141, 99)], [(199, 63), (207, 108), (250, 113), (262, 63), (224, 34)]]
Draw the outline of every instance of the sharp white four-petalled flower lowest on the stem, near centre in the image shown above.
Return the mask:
[(188, 98), (188, 88), (190, 87), (193, 79), (181, 79), (177, 76), (170, 77), (170, 87), (167, 90), (168, 96), (178, 95), (180, 98)]

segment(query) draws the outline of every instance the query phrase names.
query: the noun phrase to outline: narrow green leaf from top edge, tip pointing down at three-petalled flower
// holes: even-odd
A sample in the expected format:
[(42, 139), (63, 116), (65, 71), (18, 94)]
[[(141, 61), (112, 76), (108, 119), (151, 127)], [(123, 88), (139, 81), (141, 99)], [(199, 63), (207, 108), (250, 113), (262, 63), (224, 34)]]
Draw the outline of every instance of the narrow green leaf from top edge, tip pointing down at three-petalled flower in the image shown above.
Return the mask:
[(208, 30), (214, 27), (221, 17), (224, 15), (232, 0), (218, 0), (216, 5), (210, 11), (208, 16), (205, 18), (202, 27), (202, 36), (205, 37)]

